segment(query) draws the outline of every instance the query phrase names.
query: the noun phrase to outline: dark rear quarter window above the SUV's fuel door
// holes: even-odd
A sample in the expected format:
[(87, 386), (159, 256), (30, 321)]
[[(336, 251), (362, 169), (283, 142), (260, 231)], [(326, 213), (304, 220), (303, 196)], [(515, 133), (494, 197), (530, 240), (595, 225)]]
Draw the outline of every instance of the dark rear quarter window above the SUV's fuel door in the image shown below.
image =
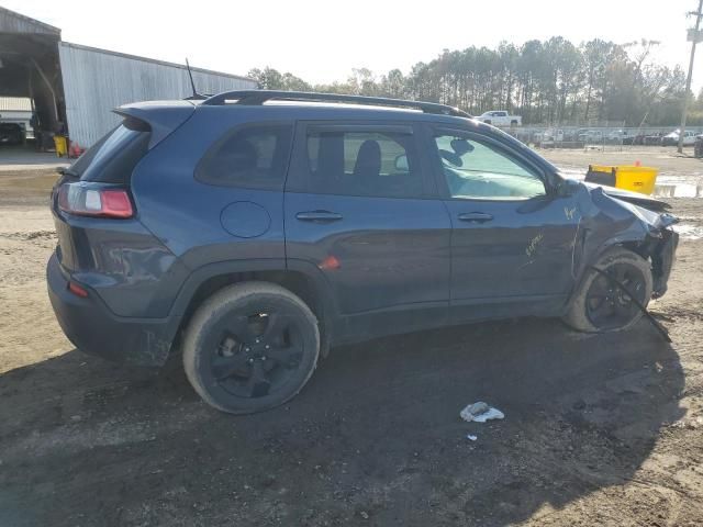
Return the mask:
[(196, 179), (225, 187), (281, 190), (291, 138), (292, 124), (231, 131), (198, 164)]

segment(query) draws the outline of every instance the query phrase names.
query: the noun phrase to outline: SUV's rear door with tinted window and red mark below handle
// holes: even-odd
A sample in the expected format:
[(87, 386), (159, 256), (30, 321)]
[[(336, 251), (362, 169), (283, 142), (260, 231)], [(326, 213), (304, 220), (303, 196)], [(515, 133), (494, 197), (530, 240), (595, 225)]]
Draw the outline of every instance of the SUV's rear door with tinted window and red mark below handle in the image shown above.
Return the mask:
[(299, 123), (284, 218), (288, 261), (325, 274), (348, 333), (444, 323), (451, 223), (413, 125)]

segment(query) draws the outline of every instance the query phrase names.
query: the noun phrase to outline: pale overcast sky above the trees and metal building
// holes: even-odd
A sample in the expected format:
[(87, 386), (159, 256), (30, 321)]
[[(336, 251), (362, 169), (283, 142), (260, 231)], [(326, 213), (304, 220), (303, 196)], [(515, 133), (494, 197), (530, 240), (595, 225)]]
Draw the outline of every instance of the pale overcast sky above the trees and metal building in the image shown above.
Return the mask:
[[(63, 38), (230, 74), (271, 66), (310, 82), (352, 68), (408, 72), (444, 48), (561, 35), (574, 44), (661, 41), (655, 58), (688, 68), (685, 30), (696, 0), (190, 1), (0, 0), (63, 30)], [(703, 86), (703, 46), (694, 88)]]

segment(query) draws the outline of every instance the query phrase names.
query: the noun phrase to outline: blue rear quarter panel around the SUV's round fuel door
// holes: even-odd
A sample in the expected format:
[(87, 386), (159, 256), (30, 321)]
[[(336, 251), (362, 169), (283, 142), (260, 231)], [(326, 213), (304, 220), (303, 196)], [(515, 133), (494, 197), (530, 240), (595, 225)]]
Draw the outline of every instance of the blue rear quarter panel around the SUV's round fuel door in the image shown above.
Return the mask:
[[(208, 148), (226, 131), (253, 119), (265, 121), (266, 116), (243, 108), (200, 106), (149, 152), (132, 178), (141, 222), (190, 270), (236, 259), (284, 261), (282, 191), (219, 187), (194, 179)], [(265, 209), (268, 229), (247, 238), (225, 231), (222, 212), (236, 202)]]

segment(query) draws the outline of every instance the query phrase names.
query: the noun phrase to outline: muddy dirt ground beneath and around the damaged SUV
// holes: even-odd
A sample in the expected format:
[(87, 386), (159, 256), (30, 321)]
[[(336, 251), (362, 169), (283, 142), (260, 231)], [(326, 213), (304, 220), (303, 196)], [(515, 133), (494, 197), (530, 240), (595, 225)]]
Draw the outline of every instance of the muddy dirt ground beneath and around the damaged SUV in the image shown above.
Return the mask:
[[(233, 417), (201, 403), (177, 361), (130, 369), (65, 339), (44, 280), (54, 177), (0, 172), (0, 526), (703, 525), (695, 236), (651, 304), (671, 345), (647, 322), (423, 332), (334, 349), (291, 403)], [(703, 200), (671, 202), (703, 225)], [(480, 400), (505, 419), (462, 422)]]

